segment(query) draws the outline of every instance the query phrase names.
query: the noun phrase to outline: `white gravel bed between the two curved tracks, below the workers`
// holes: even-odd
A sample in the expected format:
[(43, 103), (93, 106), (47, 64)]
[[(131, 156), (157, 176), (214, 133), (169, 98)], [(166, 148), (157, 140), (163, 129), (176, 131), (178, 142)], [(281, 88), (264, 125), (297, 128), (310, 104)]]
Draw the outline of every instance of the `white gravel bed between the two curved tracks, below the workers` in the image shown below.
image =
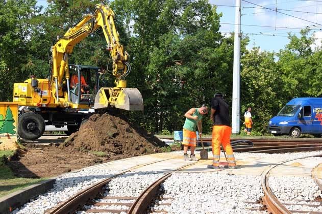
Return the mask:
[[(256, 208), (256, 202), (264, 193), (261, 188), (261, 177), (250, 175), (230, 175), (212, 173), (172, 174), (161, 185), (164, 194), (151, 207), (155, 210), (166, 210), (167, 213), (267, 213), (245, 208)], [(159, 205), (170, 203), (171, 205)]]

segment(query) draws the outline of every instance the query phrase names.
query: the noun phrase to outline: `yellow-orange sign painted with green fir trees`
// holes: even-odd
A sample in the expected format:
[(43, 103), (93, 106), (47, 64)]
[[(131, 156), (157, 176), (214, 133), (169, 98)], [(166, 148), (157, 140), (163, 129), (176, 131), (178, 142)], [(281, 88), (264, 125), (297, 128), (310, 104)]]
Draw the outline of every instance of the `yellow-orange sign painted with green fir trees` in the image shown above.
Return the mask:
[(0, 102), (0, 145), (17, 141), (18, 104)]

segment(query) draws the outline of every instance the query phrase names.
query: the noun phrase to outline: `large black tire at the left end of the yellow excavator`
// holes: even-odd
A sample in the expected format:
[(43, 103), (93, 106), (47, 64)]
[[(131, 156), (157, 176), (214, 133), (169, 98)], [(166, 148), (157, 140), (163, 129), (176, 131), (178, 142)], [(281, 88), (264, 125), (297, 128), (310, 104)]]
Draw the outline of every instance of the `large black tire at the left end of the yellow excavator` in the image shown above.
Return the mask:
[(26, 140), (36, 140), (45, 131), (45, 120), (40, 114), (29, 111), (18, 118), (18, 134)]

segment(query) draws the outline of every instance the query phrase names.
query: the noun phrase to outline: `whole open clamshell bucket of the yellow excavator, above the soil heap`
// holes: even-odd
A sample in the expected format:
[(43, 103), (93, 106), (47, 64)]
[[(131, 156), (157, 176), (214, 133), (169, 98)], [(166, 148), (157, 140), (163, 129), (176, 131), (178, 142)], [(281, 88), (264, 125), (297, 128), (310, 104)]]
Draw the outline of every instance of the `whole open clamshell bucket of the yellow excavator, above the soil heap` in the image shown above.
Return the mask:
[[(137, 88), (121, 88), (117, 97), (113, 97), (115, 89), (112, 87), (102, 87), (95, 96), (94, 109), (115, 108), (128, 111), (143, 111), (143, 98)], [(111, 102), (115, 100), (115, 102)]]

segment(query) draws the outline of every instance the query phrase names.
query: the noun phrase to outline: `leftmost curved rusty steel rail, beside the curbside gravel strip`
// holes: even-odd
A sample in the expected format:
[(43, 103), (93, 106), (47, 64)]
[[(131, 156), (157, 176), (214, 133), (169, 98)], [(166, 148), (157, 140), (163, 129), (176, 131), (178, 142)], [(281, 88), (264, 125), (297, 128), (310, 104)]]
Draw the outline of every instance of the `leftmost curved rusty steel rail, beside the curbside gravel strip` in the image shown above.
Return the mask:
[(154, 161), (154, 162), (150, 162), (147, 164), (141, 164), (141, 165), (137, 165), (134, 167), (131, 167), (125, 171), (122, 171), (116, 175), (113, 175), (112, 177), (109, 177), (103, 181), (97, 182), (96, 184), (92, 185), (89, 188), (86, 188), (83, 191), (78, 192), (77, 194), (73, 195), (72, 197), (70, 197), (69, 199), (57, 204), (57, 206), (45, 210), (45, 214), (66, 214), (66, 213), (72, 213), (73, 211), (75, 211), (79, 206), (84, 205), (89, 199), (93, 199), (95, 198), (95, 196), (98, 193), (102, 193), (104, 192), (103, 187), (105, 185), (107, 185), (113, 178), (120, 176), (122, 174), (125, 174), (133, 169), (137, 169), (143, 166), (147, 166), (150, 164), (155, 164), (158, 162), (162, 162), (162, 161), (166, 161), (166, 160), (170, 160), (170, 159), (175, 159), (175, 158), (168, 158), (168, 159), (164, 159), (164, 160), (159, 160), (159, 161)]

